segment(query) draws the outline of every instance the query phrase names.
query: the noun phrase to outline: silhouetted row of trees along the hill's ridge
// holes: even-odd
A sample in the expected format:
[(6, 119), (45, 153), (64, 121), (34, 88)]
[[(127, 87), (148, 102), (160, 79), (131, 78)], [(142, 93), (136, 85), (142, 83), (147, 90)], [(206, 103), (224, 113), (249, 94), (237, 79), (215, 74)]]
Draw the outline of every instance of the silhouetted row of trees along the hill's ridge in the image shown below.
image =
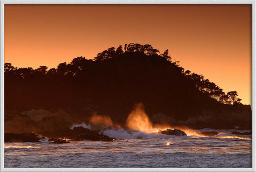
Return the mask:
[[(57, 68), (51, 68), (47, 71), (46, 66), (40, 66), (39, 68), (33, 70), (31, 67), (27, 68), (17, 68), (11, 66), (11, 63), (5, 63), (5, 73), (11, 75), (18, 75), (20, 78), (24, 79), (30, 75), (67, 75), (67, 76), (75, 76), (79, 74), (82, 70), (85, 70), (85, 67), (88, 65), (93, 65), (93, 63), (97, 63), (100, 61), (106, 61), (112, 58), (118, 58), (119, 55), (122, 55), (126, 52), (140, 52), (146, 54), (148, 56), (158, 56), (159, 58), (164, 58), (166, 61), (173, 63), (177, 67), (180, 68), (181, 72), (191, 79), (197, 88), (211, 98), (221, 102), (222, 104), (241, 104), (241, 98), (237, 98), (238, 93), (237, 91), (230, 91), (227, 94), (223, 92), (223, 89), (218, 87), (213, 82), (210, 82), (209, 79), (204, 79), (203, 75), (198, 75), (195, 73), (191, 74), (191, 71), (187, 70), (184, 71), (184, 68), (179, 66), (179, 62), (172, 62), (170, 55), (168, 55), (168, 50), (164, 51), (163, 54), (158, 54), (159, 50), (152, 48), (151, 45), (145, 44), (125, 44), (125, 51), (123, 51), (122, 45), (119, 45), (118, 48), (115, 50), (114, 47), (109, 48), (107, 50), (102, 51), (101, 53), (97, 54), (97, 57), (94, 57), (94, 60), (85, 59), (85, 57), (77, 57), (72, 60), (71, 63), (60, 63)], [(6, 74), (6, 75), (8, 75)]]

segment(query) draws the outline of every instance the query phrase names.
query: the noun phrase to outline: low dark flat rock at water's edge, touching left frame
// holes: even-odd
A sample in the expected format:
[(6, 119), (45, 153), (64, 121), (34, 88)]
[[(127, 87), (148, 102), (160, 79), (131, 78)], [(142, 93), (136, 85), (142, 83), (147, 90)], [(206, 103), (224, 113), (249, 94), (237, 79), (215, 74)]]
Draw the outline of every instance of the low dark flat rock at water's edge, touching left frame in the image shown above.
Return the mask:
[(40, 142), (40, 136), (35, 133), (5, 133), (5, 143), (7, 142)]

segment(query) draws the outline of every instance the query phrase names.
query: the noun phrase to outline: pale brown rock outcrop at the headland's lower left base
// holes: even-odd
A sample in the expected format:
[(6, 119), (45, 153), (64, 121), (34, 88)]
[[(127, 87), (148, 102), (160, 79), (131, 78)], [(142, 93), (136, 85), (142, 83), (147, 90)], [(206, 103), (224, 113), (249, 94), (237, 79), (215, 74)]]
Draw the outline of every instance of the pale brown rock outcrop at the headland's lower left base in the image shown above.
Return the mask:
[(40, 133), (44, 130), (56, 131), (75, 123), (75, 119), (59, 109), (55, 113), (44, 109), (27, 111), (5, 111), (5, 132)]

